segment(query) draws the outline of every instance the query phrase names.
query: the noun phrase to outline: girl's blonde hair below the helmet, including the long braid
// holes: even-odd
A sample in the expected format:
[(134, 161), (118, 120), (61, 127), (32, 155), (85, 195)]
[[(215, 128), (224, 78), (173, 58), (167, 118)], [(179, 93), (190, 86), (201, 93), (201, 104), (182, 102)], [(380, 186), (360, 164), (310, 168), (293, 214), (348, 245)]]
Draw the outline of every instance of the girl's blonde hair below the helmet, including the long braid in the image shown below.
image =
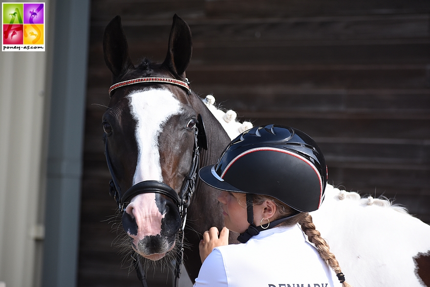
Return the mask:
[[(295, 210), (282, 201), (263, 195), (253, 195), (253, 204), (259, 205), (262, 204), (266, 200), (273, 201), (277, 206), (278, 211), (278, 219), (283, 217), (287, 217), (290, 214), (293, 214)], [(344, 281), (344, 274), (342, 273), (341, 267), (339, 266), (339, 262), (334, 256), (333, 253), (330, 252), (330, 247), (328, 243), (321, 237), (321, 233), (315, 228), (315, 224), (312, 222), (312, 216), (308, 212), (301, 212), (296, 216), (293, 216), (286, 221), (280, 223), (280, 226), (294, 226), (297, 223), (300, 224), (301, 230), (303, 230), (304, 234), (308, 237), (309, 242), (315, 244), (317, 247), (318, 253), (320, 257), (325, 261), (325, 263), (330, 266), (330, 268), (336, 273), (339, 280), (342, 283), (342, 287), (351, 287), (346, 281)]]

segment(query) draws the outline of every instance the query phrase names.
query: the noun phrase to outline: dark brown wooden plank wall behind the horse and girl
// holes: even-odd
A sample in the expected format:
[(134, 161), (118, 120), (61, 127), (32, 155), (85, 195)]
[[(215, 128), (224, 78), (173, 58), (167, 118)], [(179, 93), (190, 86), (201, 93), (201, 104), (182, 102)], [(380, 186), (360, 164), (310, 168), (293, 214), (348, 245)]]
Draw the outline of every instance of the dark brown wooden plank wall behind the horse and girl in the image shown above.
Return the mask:
[[(161, 62), (177, 13), (193, 33), (194, 91), (241, 120), (308, 133), (331, 184), (395, 199), (429, 223), (429, 12), (428, 0), (93, 0), (79, 286), (139, 286), (134, 271), (121, 269), (108, 220), (115, 203), (103, 155), (110, 72), (102, 37), (114, 16), (134, 62)], [(165, 286), (167, 273), (157, 276), (150, 286)]]

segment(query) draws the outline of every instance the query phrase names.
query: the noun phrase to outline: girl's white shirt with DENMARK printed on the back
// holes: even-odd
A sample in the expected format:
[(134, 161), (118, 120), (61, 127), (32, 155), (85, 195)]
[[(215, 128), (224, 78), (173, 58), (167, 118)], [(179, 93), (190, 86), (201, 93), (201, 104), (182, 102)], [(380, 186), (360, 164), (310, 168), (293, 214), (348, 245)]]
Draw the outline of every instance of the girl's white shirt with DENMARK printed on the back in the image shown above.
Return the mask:
[(261, 231), (247, 243), (214, 248), (194, 287), (341, 287), (300, 226)]

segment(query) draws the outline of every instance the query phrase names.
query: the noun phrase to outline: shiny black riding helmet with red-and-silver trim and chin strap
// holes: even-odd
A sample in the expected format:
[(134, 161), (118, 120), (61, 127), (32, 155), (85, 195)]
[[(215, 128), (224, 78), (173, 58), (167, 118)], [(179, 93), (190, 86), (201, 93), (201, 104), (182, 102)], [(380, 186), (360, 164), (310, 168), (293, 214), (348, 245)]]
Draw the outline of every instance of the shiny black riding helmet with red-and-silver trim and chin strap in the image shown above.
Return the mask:
[(256, 230), (248, 229), (246, 238), (239, 236), (246, 242), (261, 231), (253, 223), (250, 195), (279, 199), (297, 211), (289, 217), (317, 210), (324, 199), (327, 168), (310, 136), (291, 127), (266, 125), (237, 136), (215, 165), (200, 169), (199, 177), (216, 189), (247, 194), (248, 222)]

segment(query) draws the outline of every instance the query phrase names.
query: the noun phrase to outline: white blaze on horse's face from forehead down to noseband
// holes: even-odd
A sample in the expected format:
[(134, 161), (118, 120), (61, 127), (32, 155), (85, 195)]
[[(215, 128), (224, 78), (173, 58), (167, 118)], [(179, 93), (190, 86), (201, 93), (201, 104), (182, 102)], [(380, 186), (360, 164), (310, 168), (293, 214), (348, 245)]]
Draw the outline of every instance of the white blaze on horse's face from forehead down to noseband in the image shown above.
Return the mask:
[(136, 121), (137, 165), (132, 184), (163, 181), (158, 137), (163, 125), (182, 111), (181, 103), (168, 89), (137, 90), (129, 95), (130, 113)]

